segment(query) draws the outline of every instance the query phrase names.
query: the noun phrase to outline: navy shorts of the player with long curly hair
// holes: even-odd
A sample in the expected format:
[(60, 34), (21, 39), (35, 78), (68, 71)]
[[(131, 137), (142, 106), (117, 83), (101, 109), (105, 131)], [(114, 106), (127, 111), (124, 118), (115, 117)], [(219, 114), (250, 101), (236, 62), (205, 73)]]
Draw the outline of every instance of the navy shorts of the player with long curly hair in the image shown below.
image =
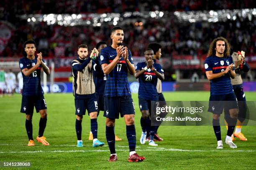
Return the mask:
[(222, 114), (225, 110), (237, 109), (238, 103), (234, 92), (226, 95), (210, 95), (208, 112)]

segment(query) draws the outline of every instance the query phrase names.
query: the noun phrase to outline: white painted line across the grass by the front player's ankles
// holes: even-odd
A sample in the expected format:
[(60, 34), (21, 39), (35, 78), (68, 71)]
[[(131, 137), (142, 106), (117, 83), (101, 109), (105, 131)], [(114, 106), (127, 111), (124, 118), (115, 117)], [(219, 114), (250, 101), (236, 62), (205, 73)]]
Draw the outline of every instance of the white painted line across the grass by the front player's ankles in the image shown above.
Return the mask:
[[(127, 151), (117, 149), (116, 151)], [(256, 152), (256, 150), (182, 150), (182, 149), (138, 149), (136, 151), (169, 151), (169, 152)], [(86, 153), (86, 152), (109, 152), (109, 150), (52, 150), (52, 151), (9, 151), (1, 153)]]

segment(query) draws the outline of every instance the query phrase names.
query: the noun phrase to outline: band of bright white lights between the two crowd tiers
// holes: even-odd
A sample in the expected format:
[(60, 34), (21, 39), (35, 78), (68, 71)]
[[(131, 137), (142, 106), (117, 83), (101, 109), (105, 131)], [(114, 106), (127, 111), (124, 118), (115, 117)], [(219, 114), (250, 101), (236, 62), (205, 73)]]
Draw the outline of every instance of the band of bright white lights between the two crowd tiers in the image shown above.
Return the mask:
[[(23, 20), (28, 23), (36, 23), (44, 21), (48, 25), (64, 25), (64, 26), (74, 26), (74, 25), (92, 25), (98, 27), (102, 24), (117, 24), (120, 21), (122, 24), (123, 20), (133, 20), (134, 18), (140, 19), (177, 19), (180, 22), (225, 22), (227, 20), (237, 20), (237, 16), (243, 20), (248, 18), (252, 20), (252, 17), (256, 15), (256, 8), (253, 9), (236, 9), (236, 10), (204, 10), (204, 11), (150, 11), (150, 12), (125, 12), (120, 13), (90, 13), (90, 14), (29, 14), (29, 15), (18, 15)], [(90, 24), (88, 24), (90, 20)], [(112, 22), (113, 20), (113, 22)], [(33, 22), (31, 22), (33, 21)], [(68, 22), (69, 21), (69, 22)], [(98, 24), (100, 23), (100, 24)]]

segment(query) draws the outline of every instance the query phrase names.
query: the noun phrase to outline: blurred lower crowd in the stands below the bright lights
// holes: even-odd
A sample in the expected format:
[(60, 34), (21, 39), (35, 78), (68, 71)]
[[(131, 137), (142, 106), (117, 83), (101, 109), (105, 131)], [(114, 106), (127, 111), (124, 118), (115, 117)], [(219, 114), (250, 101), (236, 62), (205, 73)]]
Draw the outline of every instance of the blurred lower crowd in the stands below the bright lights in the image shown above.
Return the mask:
[[(140, 22), (140, 21), (139, 21)], [(147, 42), (160, 42), (163, 57), (173, 55), (197, 55), (207, 53), (207, 47), (214, 37), (225, 36), (234, 50), (246, 51), (246, 55), (254, 55), (256, 50), (256, 18), (228, 20), (218, 23), (182, 24), (175, 20), (148, 19), (142, 26), (134, 23), (122, 25), (127, 46), (133, 56), (143, 56)], [(73, 26), (61, 27), (41, 22), (32, 27), (26, 21), (15, 23), (15, 30), (7, 47), (0, 54), (6, 57), (23, 56), (23, 42), (34, 39), (37, 49), (48, 57), (69, 57), (76, 55), (77, 45), (85, 43), (92, 49), (100, 40), (110, 41), (109, 30), (113, 25), (101, 27)]]

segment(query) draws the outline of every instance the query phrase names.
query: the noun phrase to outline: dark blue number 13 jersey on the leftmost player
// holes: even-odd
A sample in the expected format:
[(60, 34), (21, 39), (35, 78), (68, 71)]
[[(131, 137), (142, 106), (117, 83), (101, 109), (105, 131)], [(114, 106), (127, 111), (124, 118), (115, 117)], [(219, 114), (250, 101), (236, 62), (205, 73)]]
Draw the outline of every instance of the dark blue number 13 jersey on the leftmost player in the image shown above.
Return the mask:
[[(44, 59), (42, 59), (44, 63)], [(20, 70), (23, 70), (25, 68), (30, 69), (34, 65), (36, 65), (37, 57), (35, 57), (34, 60), (29, 60), (27, 57), (23, 57), (20, 59)], [(43, 95), (43, 89), (41, 87), (41, 68), (42, 65), (39, 65), (35, 71), (32, 72), (31, 75), (28, 77), (25, 76), (22, 73), (23, 77), (23, 89), (22, 89), (22, 95), (28, 96), (28, 95)]]

